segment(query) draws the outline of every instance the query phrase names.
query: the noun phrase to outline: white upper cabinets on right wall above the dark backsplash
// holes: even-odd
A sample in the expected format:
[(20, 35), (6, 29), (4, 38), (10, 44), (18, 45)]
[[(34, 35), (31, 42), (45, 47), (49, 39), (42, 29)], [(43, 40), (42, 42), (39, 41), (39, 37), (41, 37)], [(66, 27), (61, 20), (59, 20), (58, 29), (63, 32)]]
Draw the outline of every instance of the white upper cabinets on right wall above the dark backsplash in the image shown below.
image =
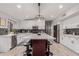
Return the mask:
[(79, 15), (65, 19), (62, 25), (63, 29), (79, 28)]

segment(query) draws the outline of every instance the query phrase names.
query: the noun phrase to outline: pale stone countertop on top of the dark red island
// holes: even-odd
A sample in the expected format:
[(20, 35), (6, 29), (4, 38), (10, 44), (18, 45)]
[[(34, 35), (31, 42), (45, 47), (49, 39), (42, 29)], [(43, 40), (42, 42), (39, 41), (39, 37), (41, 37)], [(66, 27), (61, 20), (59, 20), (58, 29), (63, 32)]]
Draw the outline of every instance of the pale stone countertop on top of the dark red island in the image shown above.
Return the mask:
[(29, 42), (31, 39), (37, 39), (37, 40), (43, 39), (43, 40), (48, 40), (49, 42), (52, 43), (55, 38), (46, 33), (40, 33), (40, 35), (39, 34), (30, 34), (30, 35), (27, 34), (27, 36), (24, 36), (23, 39), (25, 39), (24, 40), (25, 42)]

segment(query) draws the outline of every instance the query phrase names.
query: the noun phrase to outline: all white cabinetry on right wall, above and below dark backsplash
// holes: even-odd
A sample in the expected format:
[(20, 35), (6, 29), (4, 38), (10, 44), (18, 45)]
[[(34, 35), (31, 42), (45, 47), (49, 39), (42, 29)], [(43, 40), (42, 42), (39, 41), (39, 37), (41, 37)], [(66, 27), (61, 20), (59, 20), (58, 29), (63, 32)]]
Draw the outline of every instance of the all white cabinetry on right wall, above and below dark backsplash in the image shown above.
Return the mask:
[(64, 34), (67, 28), (79, 28), (79, 15), (60, 23), (60, 43), (79, 54), (79, 36)]

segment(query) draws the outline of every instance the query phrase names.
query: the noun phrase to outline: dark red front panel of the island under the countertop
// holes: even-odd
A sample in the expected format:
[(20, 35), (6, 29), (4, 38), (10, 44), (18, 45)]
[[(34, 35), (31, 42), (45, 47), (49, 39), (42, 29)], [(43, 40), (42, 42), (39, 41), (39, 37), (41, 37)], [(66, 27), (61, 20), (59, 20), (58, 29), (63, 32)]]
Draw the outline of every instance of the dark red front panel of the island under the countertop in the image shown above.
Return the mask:
[(45, 56), (46, 40), (32, 40), (33, 56)]

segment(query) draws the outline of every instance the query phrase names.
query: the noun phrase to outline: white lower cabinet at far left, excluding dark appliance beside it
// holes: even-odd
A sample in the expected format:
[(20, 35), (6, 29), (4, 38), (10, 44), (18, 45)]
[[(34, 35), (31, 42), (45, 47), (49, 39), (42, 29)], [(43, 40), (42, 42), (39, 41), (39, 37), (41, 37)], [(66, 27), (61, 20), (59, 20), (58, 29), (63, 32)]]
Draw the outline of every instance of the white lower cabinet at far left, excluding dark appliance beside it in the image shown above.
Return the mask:
[(6, 52), (11, 48), (11, 36), (0, 35), (0, 52)]

